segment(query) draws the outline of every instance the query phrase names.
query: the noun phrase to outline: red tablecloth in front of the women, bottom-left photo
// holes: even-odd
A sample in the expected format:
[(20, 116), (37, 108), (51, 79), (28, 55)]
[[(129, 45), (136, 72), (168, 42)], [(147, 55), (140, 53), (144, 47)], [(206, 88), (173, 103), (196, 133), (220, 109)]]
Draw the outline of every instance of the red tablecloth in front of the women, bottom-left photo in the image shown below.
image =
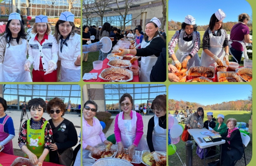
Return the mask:
[[(0, 152), (0, 164), (3, 166), (10, 166), (14, 160), (20, 156), (5, 154), (3, 152)], [(43, 162), (43, 166), (63, 166), (55, 163), (50, 162)]]

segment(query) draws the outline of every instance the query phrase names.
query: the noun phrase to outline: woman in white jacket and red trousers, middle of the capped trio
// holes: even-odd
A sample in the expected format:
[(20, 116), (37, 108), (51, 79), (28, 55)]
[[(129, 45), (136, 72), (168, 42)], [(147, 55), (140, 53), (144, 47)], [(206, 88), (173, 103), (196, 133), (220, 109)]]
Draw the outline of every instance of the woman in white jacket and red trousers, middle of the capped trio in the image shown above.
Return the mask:
[(48, 16), (35, 16), (32, 33), (36, 35), (29, 40), (29, 58), (24, 65), (30, 72), (33, 63), (33, 82), (57, 82), (58, 43), (50, 31)]

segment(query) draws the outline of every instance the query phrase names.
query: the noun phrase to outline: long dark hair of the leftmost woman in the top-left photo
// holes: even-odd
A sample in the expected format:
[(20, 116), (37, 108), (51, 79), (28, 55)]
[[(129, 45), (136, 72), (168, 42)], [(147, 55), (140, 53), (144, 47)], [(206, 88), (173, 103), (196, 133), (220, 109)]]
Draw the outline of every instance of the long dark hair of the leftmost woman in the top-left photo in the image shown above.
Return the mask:
[[(8, 43), (8, 47), (10, 47), (10, 43), (12, 42), (12, 32), (11, 30), (8, 28), (10, 23), (11, 23), (12, 20), (9, 20), (6, 24), (6, 27), (5, 27), (5, 34), (4, 34), (4, 37), (5, 37), (5, 41)], [(27, 39), (27, 35), (25, 34), (25, 28), (22, 24), (22, 22), (19, 20), (19, 23), (20, 23), (20, 31), (18, 33), (18, 38), (22, 38), (22, 39)], [(2, 38), (1, 38), (2, 39)], [(8, 48), (7, 47), (7, 48)]]

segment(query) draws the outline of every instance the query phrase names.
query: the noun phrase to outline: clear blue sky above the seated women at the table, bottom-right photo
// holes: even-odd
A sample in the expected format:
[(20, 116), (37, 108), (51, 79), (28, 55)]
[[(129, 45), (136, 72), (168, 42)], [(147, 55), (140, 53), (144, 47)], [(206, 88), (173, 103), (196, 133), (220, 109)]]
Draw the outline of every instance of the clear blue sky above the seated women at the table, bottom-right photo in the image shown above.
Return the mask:
[(168, 98), (211, 105), (247, 100), (251, 90), (251, 85), (170, 85)]

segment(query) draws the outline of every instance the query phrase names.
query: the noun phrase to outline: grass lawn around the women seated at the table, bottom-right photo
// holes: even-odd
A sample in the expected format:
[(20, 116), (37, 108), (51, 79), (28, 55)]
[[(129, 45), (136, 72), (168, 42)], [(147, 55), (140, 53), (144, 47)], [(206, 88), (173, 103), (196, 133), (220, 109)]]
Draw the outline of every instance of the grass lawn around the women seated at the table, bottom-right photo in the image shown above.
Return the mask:
[[(247, 111), (204, 111), (204, 121), (207, 120), (206, 112), (213, 112), (214, 117), (217, 119), (218, 114), (223, 114), (225, 116), (225, 120), (223, 123), (226, 123), (227, 119), (233, 117), (237, 120), (237, 122), (245, 122), (248, 123), (249, 119), (251, 118), (251, 112)], [(215, 121), (217, 124), (218, 121)], [(182, 124), (185, 126), (184, 124)], [(195, 145), (195, 141), (192, 140), (193, 144)], [(177, 147), (177, 153), (181, 158), (181, 161), (185, 164), (186, 163), (186, 150), (185, 150), (185, 142), (180, 139), (180, 142), (175, 145)], [(217, 147), (218, 148), (218, 147)], [(193, 166), (202, 166), (204, 159), (200, 159), (196, 154), (196, 146), (193, 146)], [(169, 166), (182, 166), (182, 163), (175, 153), (168, 157), (169, 159)], [(219, 157), (214, 157), (211, 159), (206, 159), (206, 165), (209, 162), (217, 160)], [(245, 158), (246, 163), (248, 164), (252, 159), (252, 144), (249, 143), (248, 146), (245, 148)], [(244, 159), (242, 158), (240, 161), (236, 163), (236, 165), (242, 166), (244, 165)]]

